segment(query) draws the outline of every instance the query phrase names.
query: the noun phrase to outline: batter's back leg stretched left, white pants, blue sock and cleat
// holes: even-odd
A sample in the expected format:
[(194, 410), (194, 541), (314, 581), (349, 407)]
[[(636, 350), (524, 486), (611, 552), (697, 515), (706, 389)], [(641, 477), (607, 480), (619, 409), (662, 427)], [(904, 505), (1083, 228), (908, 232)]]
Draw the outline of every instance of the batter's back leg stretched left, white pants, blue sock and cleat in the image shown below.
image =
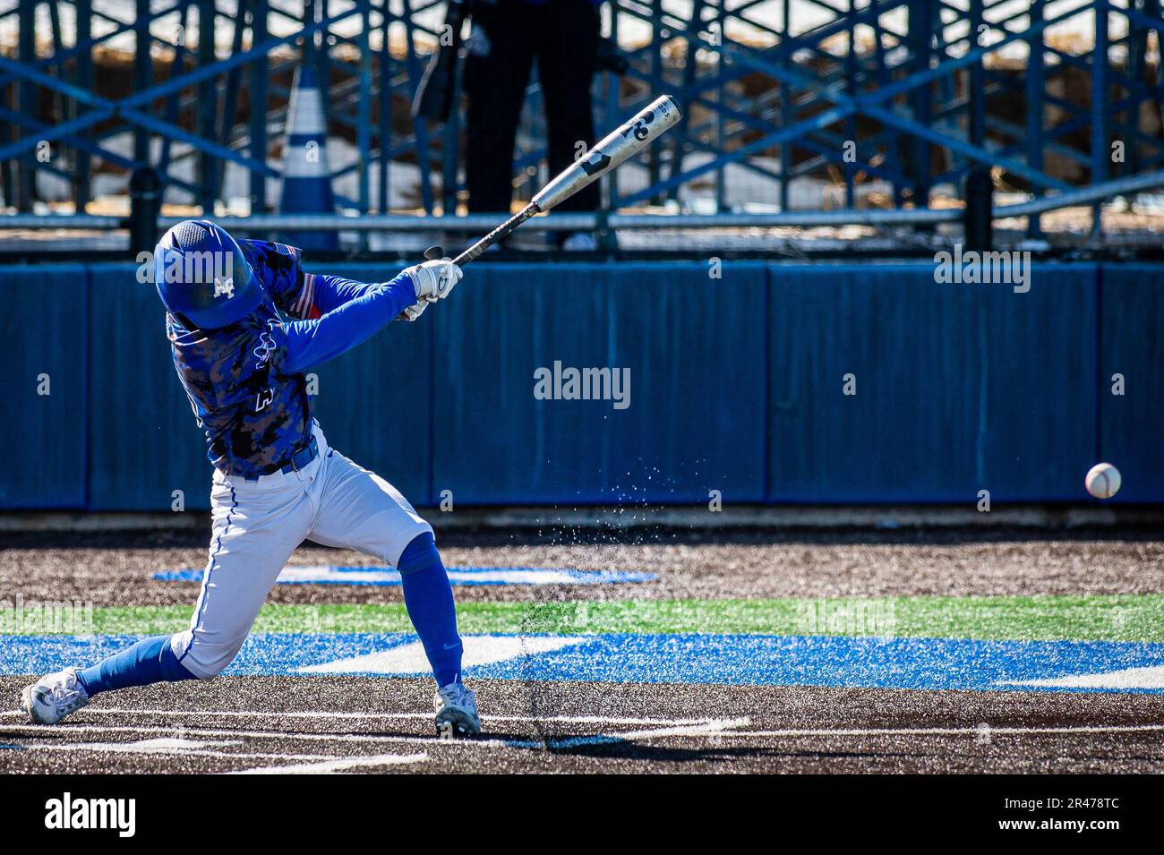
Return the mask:
[(143, 639), (90, 668), (47, 675), (22, 692), (30, 720), (56, 724), (101, 692), (208, 679), (230, 663), (279, 570), (306, 535), (312, 506), (305, 484), (261, 490), (219, 480), (211, 503), (210, 561), (191, 628)]

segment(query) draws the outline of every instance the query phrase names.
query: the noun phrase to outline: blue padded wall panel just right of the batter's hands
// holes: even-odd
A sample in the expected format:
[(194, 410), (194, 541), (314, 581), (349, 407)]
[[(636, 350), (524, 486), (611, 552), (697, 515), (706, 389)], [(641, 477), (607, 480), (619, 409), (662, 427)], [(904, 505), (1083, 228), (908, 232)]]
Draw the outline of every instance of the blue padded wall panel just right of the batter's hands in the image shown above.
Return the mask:
[[(480, 265), (433, 312), (433, 487), (480, 504), (758, 501), (761, 264)], [(630, 405), (534, 371), (630, 369)]]

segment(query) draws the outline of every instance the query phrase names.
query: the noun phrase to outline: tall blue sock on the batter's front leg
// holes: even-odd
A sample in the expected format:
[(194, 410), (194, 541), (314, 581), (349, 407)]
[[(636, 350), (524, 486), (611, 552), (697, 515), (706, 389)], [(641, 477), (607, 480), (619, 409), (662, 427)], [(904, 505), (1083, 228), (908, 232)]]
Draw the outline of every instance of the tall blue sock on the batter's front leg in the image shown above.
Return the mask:
[(396, 568), (404, 585), (404, 606), (424, 644), (436, 685), (461, 682), (461, 636), (456, 633), (453, 586), (431, 534), (416, 536)]

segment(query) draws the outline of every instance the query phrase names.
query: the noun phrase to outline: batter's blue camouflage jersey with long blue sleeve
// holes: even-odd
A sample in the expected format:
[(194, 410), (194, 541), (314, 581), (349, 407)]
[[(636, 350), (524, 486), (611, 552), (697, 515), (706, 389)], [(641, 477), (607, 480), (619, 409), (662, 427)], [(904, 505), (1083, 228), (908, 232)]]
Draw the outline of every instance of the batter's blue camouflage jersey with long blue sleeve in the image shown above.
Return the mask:
[(407, 273), (367, 285), (304, 273), (294, 247), (239, 244), (264, 291), (258, 308), (206, 332), (166, 314), (166, 335), (211, 463), (257, 478), (282, 469), (311, 436), (303, 372), (365, 341), (417, 297)]

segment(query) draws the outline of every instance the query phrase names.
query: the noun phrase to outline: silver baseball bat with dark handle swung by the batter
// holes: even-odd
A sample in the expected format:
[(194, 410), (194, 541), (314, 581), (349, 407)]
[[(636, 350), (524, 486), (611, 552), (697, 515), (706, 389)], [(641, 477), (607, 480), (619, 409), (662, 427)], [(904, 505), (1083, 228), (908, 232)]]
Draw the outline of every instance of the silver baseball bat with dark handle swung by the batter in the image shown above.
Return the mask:
[(457, 265), (468, 264), (534, 214), (549, 211), (588, 184), (598, 180), (626, 158), (637, 155), (679, 119), (680, 112), (675, 101), (670, 95), (660, 95), (651, 106), (598, 141), (582, 158), (562, 170), (554, 180), (538, 191), (521, 211), (461, 252), (453, 262)]

